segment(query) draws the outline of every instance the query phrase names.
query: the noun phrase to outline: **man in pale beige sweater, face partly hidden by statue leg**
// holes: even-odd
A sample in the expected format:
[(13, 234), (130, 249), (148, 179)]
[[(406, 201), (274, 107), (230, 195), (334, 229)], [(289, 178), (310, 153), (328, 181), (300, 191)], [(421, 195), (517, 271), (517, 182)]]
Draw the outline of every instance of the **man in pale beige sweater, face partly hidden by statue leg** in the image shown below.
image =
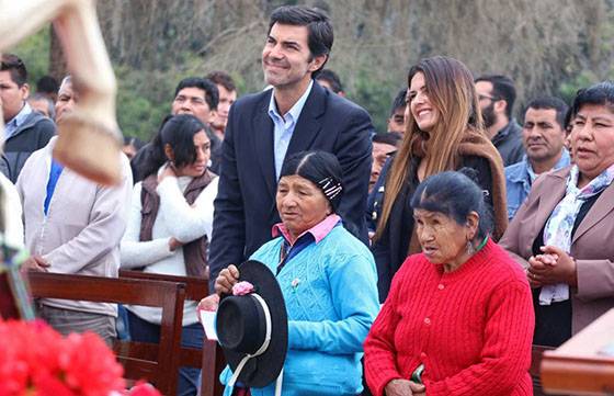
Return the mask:
[[(78, 102), (67, 77), (56, 102), (59, 125)], [(32, 253), (22, 270), (116, 278), (133, 189), (128, 159), (118, 154), (118, 185), (100, 185), (52, 157), (56, 140), (27, 159), (16, 182)], [(44, 298), (38, 314), (62, 335), (93, 331), (109, 344), (115, 338), (115, 304)]]

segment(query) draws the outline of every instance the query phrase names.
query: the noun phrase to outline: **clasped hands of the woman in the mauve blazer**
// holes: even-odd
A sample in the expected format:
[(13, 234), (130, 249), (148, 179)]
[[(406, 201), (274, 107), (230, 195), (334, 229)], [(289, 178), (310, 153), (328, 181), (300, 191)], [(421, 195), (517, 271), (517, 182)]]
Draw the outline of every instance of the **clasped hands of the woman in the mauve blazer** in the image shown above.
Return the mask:
[(556, 283), (578, 285), (576, 261), (571, 256), (555, 246), (543, 246), (541, 250), (544, 254), (528, 259), (526, 275), (532, 287)]

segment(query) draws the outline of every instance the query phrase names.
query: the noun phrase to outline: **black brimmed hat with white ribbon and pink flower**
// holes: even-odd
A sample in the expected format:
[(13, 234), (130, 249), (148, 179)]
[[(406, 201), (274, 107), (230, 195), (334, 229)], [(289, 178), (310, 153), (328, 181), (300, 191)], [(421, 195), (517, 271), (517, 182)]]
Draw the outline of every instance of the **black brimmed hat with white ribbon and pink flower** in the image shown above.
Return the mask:
[(239, 265), (234, 295), (219, 303), (216, 331), (232, 370), (228, 386), (239, 382), (264, 387), (281, 377), (287, 352), (287, 314), (275, 275), (263, 263)]

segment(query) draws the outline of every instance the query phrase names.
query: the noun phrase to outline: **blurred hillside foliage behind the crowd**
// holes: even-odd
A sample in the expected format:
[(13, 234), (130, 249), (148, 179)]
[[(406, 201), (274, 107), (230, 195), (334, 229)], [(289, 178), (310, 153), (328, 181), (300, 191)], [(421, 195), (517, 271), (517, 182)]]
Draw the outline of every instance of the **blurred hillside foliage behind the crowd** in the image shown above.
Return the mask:
[[(170, 111), (174, 87), (184, 77), (223, 69), (240, 94), (262, 89), (260, 50), (268, 14), (282, 3), (307, 2), (330, 11), (336, 43), (327, 67), (340, 75), (348, 98), (369, 112), (377, 132), (386, 131), (390, 104), (407, 84), (409, 66), (421, 57), (448, 55), (476, 73), (512, 76), (519, 118), (536, 95), (570, 101), (579, 88), (614, 78), (614, 0), (519, 0), (499, 3), (500, 10), (482, 0), (446, 8), (435, 7), (436, 0), (168, 1), (174, 5), (99, 2), (117, 77), (117, 120), (124, 135), (144, 140)], [(558, 20), (539, 18), (553, 3), (560, 5)], [(467, 15), (475, 25), (462, 22)], [(161, 25), (162, 16), (168, 21)], [(47, 25), (12, 49), (24, 59), (32, 87), (48, 72), (49, 42)]]

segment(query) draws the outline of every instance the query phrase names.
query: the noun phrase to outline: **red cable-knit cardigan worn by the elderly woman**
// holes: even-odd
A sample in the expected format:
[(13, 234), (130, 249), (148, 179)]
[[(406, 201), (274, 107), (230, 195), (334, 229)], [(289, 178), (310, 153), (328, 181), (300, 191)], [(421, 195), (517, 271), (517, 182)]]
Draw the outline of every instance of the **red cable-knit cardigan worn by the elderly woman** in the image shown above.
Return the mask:
[(489, 240), (456, 271), (409, 257), (365, 341), (376, 396), (424, 364), (428, 396), (533, 395), (535, 317), (523, 270)]

